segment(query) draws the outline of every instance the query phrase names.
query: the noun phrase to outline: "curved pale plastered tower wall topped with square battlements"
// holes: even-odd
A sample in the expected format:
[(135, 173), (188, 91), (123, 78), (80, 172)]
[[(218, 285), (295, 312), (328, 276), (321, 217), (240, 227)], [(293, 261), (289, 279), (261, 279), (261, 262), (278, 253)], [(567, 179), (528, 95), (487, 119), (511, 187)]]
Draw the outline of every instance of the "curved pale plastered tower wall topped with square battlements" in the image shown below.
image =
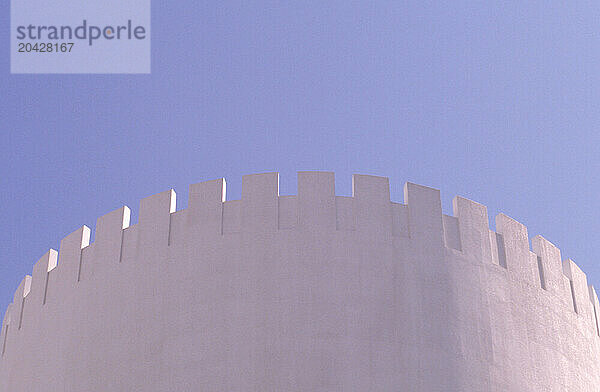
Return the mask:
[[(456, 197), (355, 175), (170, 190), (82, 227), (23, 279), (0, 391), (593, 391), (598, 297), (540, 236)], [(60, 256), (59, 256), (60, 255)]]

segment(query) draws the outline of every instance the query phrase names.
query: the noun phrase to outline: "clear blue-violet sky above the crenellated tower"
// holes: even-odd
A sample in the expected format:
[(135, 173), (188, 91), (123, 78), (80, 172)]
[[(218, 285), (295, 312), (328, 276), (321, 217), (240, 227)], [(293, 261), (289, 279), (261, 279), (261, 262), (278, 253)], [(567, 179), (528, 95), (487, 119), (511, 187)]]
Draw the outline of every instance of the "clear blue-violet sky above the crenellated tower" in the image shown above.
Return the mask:
[[(10, 75), (0, 15), (0, 313), (48, 248), (173, 187), (296, 171), (462, 195), (600, 286), (600, 3), (154, 1), (151, 75)], [(250, 4), (252, 3), (252, 4)], [(446, 4), (448, 3), (448, 4)], [(451, 5), (450, 5), (451, 4)]]

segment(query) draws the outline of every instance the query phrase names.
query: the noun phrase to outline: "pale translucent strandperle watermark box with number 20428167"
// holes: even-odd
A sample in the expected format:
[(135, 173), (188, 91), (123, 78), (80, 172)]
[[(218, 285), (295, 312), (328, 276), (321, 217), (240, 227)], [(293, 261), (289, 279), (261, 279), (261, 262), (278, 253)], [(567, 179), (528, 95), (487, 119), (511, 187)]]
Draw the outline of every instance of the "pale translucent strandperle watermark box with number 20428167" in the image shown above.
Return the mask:
[(11, 0), (12, 73), (150, 73), (150, 0)]

